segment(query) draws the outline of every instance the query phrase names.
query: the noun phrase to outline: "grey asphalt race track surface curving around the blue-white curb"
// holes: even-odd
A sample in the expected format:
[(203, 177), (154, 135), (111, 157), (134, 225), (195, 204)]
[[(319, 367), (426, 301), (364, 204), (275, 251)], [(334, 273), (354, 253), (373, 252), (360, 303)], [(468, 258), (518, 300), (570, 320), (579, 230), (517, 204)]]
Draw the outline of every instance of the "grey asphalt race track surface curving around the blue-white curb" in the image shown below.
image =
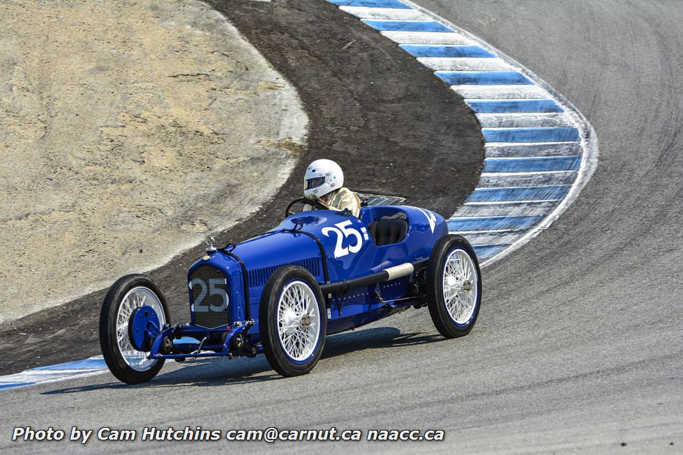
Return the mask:
[[(9, 390), (0, 450), (29, 447), (10, 441), (19, 424), (446, 431), (444, 442), (366, 445), (91, 441), (89, 452), (680, 453), (680, 1), (418, 3), (534, 71), (600, 141), (573, 206), (483, 271), (472, 333), (445, 341), (427, 311), (409, 310), (330, 337), (299, 378), (280, 378), (260, 357), (167, 364), (141, 386), (107, 374)], [(74, 442), (30, 449), (77, 452)]]

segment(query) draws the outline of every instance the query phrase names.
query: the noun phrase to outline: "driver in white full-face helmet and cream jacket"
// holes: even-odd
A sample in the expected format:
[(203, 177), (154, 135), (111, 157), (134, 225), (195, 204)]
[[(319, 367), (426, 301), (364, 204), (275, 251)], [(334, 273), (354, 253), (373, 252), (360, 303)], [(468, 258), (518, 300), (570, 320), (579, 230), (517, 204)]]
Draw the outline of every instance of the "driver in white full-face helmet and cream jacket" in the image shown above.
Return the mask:
[(316, 203), (329, 210), (348, 209), (354, 216), (361, 212), (361, 200), (344, 185), (344, 173), (332, 160), (315, 160), (303, 176), (303, 210), (316, 208)]

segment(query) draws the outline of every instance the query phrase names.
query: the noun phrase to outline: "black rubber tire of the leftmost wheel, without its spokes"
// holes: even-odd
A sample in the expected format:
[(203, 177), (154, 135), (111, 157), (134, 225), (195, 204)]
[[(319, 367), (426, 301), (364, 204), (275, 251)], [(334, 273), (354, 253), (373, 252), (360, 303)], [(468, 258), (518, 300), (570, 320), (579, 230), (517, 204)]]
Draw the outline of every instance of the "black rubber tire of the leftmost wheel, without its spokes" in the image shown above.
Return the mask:
[(166, 323), (170, 323), (170, 312), (166, 304), (166, 298), (160, 288), (147, 275), (126, 275), (112, 284), (105, 296), (100, 311), (100, 348), (107, 362), (107, 367), (117, 379), (123, 383), (138, 384), (151, 380), (163, 367), (164, 360), (157, 360), (146, 371), (138, 371), (131, 368), (123, 359), (117, 341), (117, 316), (123, 297), (133, 288), (145, 287), (155, 293), (161, 302)]

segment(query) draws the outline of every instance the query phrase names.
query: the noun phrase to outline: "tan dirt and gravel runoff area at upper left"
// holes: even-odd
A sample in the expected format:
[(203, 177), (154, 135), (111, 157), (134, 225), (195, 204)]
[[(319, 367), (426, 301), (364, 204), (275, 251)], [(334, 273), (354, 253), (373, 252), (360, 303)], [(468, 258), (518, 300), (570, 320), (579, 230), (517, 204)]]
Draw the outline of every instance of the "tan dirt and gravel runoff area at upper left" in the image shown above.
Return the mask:
[(306, 148), (297, 91), (199, 1), (2, 1), (0, 27), (0, 322), (239, 222)]

